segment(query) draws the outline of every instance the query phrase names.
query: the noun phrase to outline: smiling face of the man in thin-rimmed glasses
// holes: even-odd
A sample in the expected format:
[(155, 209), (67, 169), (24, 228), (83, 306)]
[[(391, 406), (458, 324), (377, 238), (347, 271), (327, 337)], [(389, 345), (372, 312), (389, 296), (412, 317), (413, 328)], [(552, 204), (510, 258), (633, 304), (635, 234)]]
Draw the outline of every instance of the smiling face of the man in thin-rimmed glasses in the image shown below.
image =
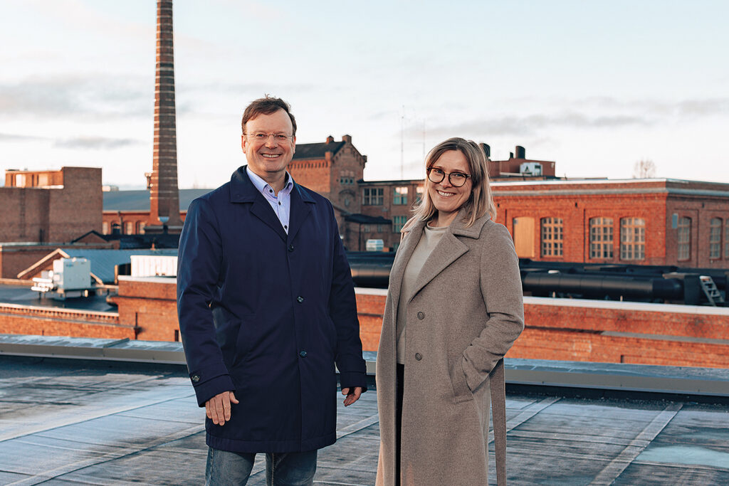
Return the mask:
[[(294, 126), (284, 110), (249, 119), (241, 144), (249, 168), (265, 181), (283, 176), (296, 152), (296, 137), (291, 136), (293, 131)], [(289, 138), (276, 141), (276, 137), (269, 136), (265, 141), (259, 141), (254, 139), (256, 134), (286, 135)]]

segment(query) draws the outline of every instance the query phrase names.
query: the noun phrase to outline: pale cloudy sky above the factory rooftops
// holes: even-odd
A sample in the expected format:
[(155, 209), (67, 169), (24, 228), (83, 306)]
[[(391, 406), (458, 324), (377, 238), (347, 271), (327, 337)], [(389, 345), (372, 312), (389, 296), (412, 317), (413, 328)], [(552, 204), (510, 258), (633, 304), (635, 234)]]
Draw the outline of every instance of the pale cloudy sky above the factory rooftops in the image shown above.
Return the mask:
[[(0, 171), (152, 170), (155, 0), (0, 0)], [(175, 0), (179, 186), (245, 163), (270, 94), (297, 143), (352, 136), (364, 179), (415, 179), (451, 136), (558, 176), (729, 183), (729, 1)], [(4, 179), (4, 178), (3, 178)], [(0, 181), (0, 184), (2, 182)]]

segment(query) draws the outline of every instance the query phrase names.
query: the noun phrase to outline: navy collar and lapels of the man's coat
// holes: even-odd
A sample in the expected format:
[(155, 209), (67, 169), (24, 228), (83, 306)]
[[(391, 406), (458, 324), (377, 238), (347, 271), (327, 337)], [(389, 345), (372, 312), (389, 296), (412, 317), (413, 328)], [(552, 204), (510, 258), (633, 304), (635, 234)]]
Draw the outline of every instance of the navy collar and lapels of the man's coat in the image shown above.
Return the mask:
[[(289, 234), (286, 235), (281, 222), (278, 221), (276, 213), (270, 207), (268, 201), (263, 197), (248, 176), (248, 166), (238, 168), (230, 177), (230, 202), (231, 203), (253, 203), (251, 212), (262, 222), (271, 227), (284, 241), (291, 241), (295, 238), (303, 222), (311, 213), (311, 204), (316, 201), (311, 195), (294, 181), (294, 188), (291, 191), (291, 213), (289, 214)], [(304, 204), (311, 203), (311, 204)]]

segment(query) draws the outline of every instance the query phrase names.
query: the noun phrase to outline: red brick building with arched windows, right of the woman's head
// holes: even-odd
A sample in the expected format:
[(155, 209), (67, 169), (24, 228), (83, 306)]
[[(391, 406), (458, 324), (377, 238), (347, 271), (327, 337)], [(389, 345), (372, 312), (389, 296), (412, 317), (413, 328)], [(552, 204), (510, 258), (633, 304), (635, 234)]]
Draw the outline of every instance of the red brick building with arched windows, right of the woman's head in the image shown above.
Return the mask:
[(494, 182), (519, 256), (729, 267), (729, 184), (674, 179)]

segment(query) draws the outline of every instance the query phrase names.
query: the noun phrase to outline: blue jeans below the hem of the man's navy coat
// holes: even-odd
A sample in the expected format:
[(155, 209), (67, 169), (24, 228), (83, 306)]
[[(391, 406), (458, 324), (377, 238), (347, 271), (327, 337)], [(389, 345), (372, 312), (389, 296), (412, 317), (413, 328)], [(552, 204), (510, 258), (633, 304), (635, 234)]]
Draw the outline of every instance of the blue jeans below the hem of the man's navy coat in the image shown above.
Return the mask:
[[(266, 484), (269, 486), (311, 486), (316, 473), (316, 450), (266, 453)], [(256, 455), (208, 447), (206, 486), (245, 485)]]

